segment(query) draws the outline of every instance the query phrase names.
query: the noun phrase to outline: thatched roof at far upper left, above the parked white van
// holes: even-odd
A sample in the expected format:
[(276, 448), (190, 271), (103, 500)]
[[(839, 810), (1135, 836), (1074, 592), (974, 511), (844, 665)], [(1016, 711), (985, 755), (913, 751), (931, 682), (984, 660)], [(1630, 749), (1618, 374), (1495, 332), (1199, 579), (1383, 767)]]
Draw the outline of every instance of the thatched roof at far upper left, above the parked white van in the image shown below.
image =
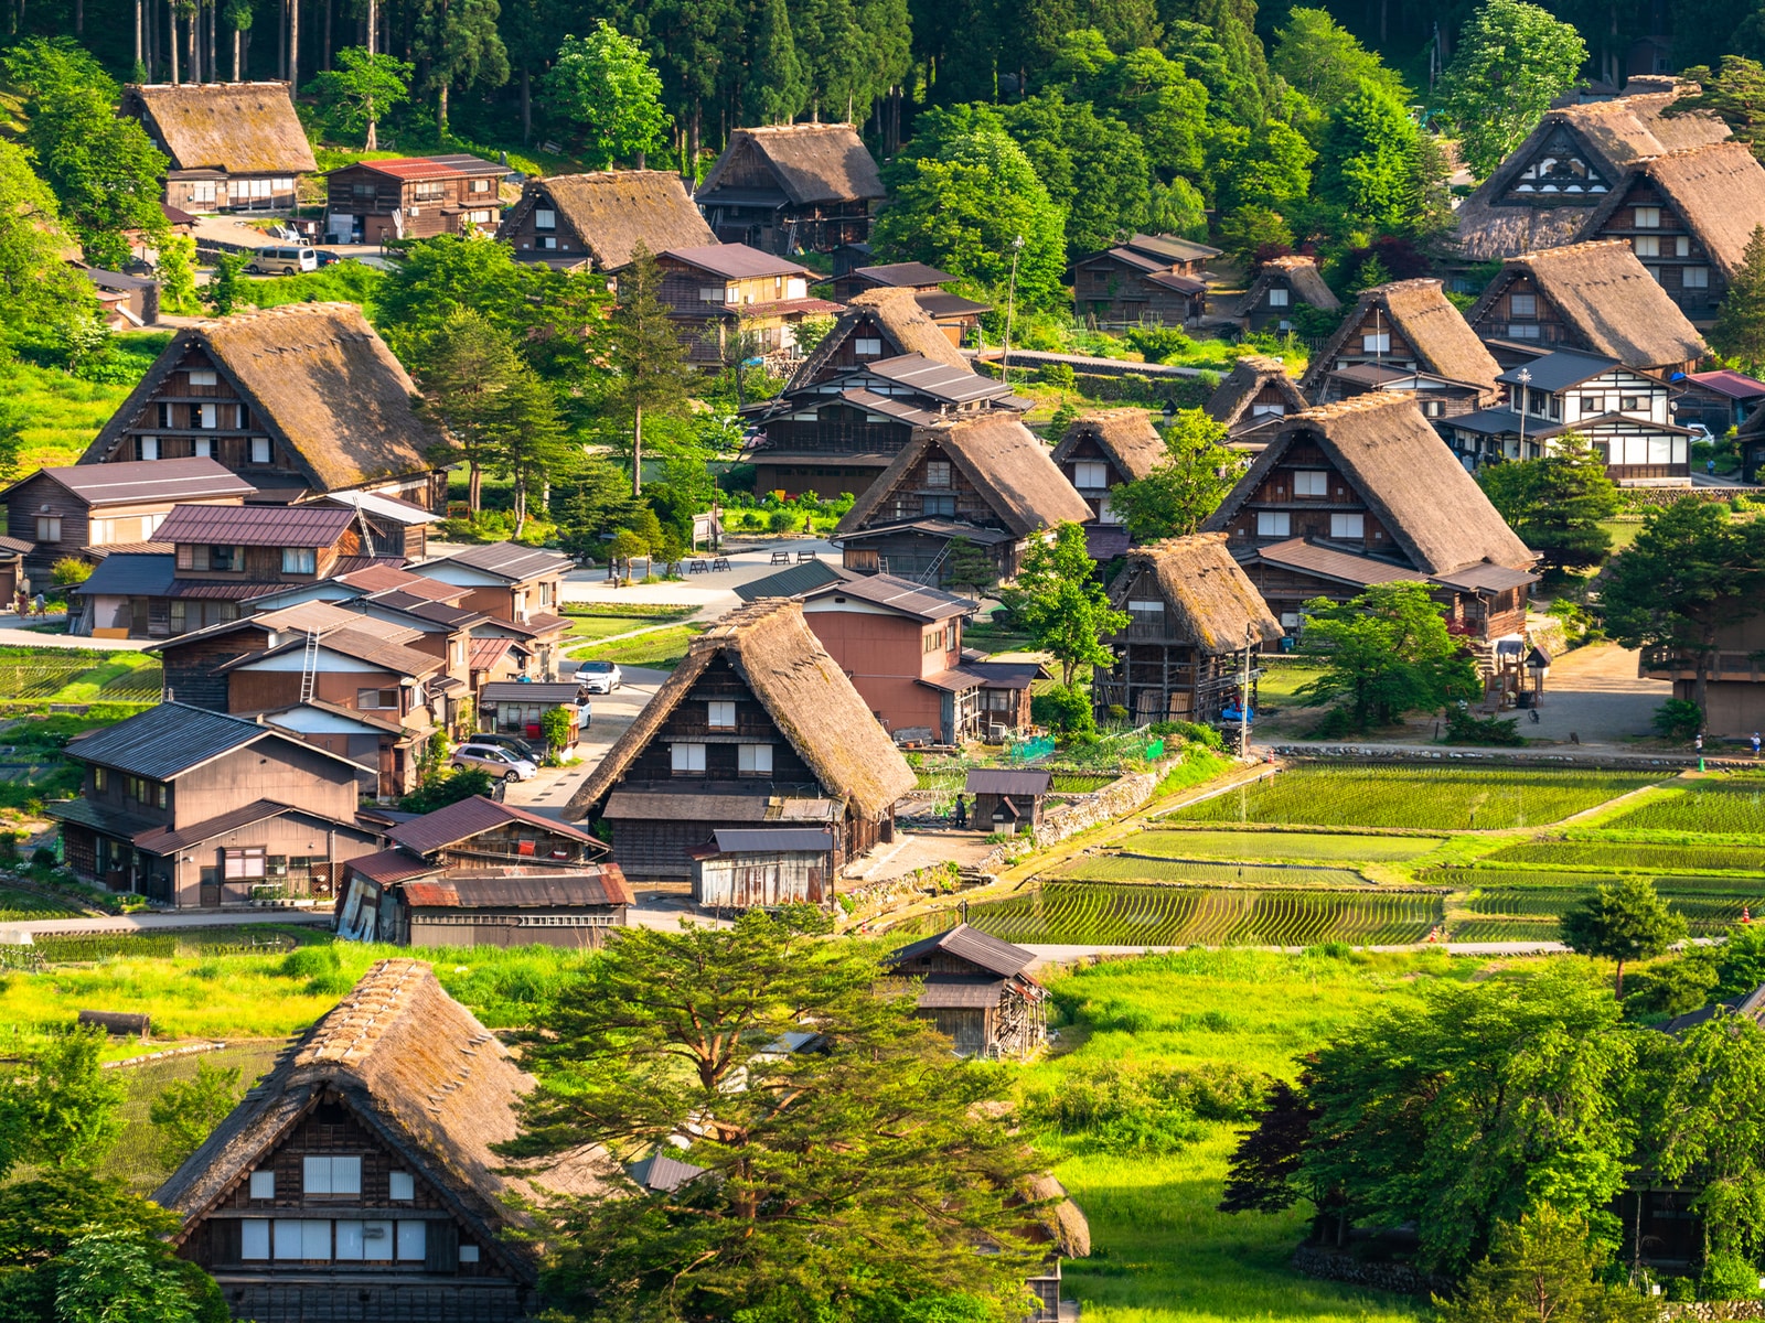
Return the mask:
[(173, 169), (228, 175), (307, 175), (318, 169), (288, 83), (168, 83), (124, 90)]

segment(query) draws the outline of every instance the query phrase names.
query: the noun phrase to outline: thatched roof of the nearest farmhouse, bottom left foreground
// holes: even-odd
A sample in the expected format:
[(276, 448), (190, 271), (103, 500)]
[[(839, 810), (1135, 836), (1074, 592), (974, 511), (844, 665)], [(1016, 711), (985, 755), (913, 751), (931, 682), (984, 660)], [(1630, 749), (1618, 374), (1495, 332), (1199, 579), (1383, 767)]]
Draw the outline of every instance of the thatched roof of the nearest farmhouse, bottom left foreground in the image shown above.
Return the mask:
[[(154, 1200), (184, 1215), (180, 1244), (327, 1095), (355, 1117), (447, 1201), (517, 1275), (530, 1252), (501, 1238), (514, 1215), (501, 1200), (526, 1189), (503, 1175), (492, 1145), (515, 1138), (514, 1104), (533, 1087), (501, 1043), (436, 983), (420, 960), (381, 960), (171, 1173)], [(604, 1171), (572, 1159), (535, 1170), (560, 1192), (586, 1192)]]

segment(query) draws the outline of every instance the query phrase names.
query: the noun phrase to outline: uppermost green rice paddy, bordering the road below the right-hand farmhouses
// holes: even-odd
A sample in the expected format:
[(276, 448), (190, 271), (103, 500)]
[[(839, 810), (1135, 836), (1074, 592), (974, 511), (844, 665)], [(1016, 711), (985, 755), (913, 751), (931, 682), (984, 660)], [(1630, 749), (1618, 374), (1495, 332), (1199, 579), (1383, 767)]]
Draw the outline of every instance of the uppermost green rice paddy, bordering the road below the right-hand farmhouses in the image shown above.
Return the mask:
[(1186, 822), (1500, 829), (1558, 822), (1659, 780), (1525, 767), (1299, 767), (1177, 810)]

